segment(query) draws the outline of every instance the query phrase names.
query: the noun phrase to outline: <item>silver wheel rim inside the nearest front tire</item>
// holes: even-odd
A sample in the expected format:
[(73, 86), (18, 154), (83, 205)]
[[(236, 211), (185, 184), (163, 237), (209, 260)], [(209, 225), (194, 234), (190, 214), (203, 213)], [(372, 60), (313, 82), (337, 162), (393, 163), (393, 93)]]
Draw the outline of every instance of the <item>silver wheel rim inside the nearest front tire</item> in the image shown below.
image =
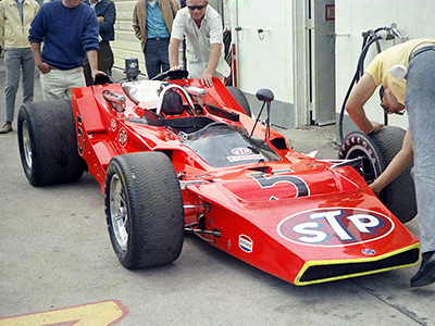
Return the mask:
[(127, 250), (128, 211), (125, 191), (116, 174), (110, 180), (110, 218), (117, 244), (123, 251)]

